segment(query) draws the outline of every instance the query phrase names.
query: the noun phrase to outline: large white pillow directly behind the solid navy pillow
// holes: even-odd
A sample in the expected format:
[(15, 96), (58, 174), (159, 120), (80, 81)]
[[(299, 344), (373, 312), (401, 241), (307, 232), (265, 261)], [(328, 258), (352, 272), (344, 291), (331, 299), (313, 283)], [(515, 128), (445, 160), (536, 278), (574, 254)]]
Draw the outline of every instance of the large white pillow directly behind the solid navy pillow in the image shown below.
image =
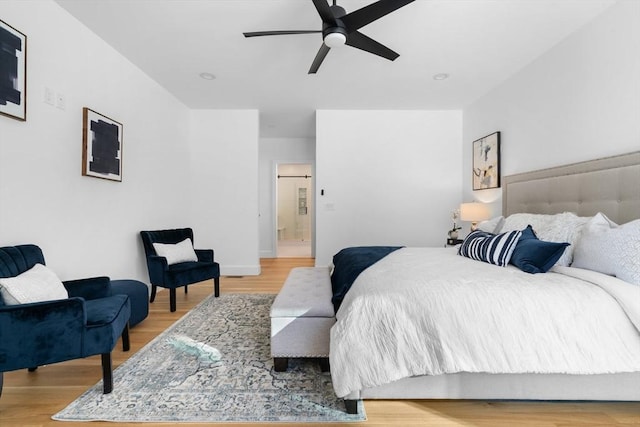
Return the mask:
[(572, 212), (560, 214), (528, 214), (509, 215), (502, 226), (501, 233), (513, 230), (524, 230), (531, 225), (540, 240), (556, 243), (570, 243), (555, 265), (569, 266), (573, 260), (573, 250), (580, 237), (580, 232), (589, 217), (578, 216)]

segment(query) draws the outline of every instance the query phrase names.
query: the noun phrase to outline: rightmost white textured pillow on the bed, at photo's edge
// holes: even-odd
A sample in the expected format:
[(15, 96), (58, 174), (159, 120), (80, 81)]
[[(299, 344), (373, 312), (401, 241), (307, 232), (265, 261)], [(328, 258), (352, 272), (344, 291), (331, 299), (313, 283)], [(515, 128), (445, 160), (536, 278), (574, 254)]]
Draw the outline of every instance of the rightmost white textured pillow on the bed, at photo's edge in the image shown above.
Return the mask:
[(571, 266), (640, 285), (640, 219), (617, 225), (598, 213), (585, 224)]

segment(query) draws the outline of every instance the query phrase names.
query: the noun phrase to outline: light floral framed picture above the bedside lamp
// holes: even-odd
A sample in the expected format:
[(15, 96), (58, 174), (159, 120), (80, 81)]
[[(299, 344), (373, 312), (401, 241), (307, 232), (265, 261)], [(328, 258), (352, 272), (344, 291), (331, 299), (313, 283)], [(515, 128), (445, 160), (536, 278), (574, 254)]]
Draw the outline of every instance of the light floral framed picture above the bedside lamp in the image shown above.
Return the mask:
[(500, 187), (500, 132), (473, 141), (473, 189)]

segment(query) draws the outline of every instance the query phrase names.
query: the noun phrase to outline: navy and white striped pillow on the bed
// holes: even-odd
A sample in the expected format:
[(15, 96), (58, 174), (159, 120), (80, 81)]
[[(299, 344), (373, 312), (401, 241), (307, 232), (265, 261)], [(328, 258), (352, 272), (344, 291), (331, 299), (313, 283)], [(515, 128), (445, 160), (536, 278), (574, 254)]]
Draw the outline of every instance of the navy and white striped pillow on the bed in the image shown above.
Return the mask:
[(476, 230), (462, 242), (458, 255), (504, 267), (509, 263), (522, 231), (492, 234)]

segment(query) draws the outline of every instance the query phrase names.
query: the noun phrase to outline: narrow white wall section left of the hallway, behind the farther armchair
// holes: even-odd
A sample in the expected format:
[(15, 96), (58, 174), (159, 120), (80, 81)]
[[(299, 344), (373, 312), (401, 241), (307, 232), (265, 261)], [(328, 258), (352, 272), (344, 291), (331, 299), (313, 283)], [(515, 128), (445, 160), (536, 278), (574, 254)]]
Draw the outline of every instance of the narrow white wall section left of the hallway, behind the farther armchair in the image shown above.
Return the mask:
[(259, 274), (258, 111), (194, 110), (189, 127), (194, 243), (223, 275)]

